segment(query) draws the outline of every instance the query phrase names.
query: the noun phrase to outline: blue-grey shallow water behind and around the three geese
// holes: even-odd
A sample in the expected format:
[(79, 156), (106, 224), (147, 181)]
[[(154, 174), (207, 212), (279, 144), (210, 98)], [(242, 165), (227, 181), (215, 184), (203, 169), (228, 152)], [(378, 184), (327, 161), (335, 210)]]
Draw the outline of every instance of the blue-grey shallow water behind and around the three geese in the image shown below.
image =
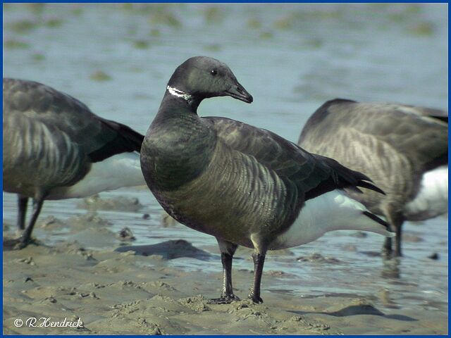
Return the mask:
[[(211, 99), (199, 115), (242, 120), (293, 142), (309, 115), (335, 97), (447, 109), (447, 4), (8, 4), (4, 47), (4, 77), (49, 84), (142, 133), (175, 66), (201, 54), (228, 63), (254, 103)], [(162, 227), (161, 207), (150, 192), (120, 189), (101, 196), (137, 197), (144, 204), (139, 213), (99, 211), (113, 223), (111, 230), (130, 227), (134, 245), (186, 239), (215, 256), (208, 265), (194, 258), (168, 264), (221, 270), (215, 239), (182, 225)], [(85, 213), (77, 202), (47, 201), (41, 218)], [(16, 220), (12, 194), (4, 194), (4, 220)], [(277, 288), (263, 290), (305, 297), (359, 294), (386, 311), (447, 313), (447, 219), (407, 223), (405, 230), (421, 241), (404, 241), (400, 263), (372, 256), (382, 237), (355, 232), (326, 234), (291, 249), (292, 256), (271, 255), (265, 270), (287, 275)], [(64, 231), (49, 237), (38, 229), (35, 235), (50, 244), (66, 239)], [(314, 252), (339, 261), (296, 259)], [(437, 261), (427, 258), (432, 253), (438, 253)], [(245, 259), (235, 260), (235, 268), (252, 269), (247, 255), (237, 256)]]

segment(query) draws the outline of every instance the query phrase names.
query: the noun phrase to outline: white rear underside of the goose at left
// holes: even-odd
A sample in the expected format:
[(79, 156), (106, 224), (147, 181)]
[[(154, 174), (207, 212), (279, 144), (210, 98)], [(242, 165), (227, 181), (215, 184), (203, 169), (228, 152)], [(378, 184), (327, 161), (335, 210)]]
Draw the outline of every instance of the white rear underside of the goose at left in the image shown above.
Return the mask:
[(92, 163), (91, 170), (80, 182), (65, 189), (54, 189), (48, 199), (72, 199), (91, 196), (121, 187), (146, 184), (142, 175), (140, 155), (122, 153)]

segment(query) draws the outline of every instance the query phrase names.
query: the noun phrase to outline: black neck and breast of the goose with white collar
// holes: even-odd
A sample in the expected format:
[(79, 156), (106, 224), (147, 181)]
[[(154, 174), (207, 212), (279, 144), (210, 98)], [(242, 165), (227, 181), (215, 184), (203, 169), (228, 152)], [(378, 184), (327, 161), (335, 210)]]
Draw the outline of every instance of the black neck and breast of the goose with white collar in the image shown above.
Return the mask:
[[(208, 165), (216, 146), (216, 133), (199, 118), (202, 100), (166, 94), (144, 139), (151, 189), (172, 190), (194, 180)], [(149, 135), (152, 135), (149, 137)]]

